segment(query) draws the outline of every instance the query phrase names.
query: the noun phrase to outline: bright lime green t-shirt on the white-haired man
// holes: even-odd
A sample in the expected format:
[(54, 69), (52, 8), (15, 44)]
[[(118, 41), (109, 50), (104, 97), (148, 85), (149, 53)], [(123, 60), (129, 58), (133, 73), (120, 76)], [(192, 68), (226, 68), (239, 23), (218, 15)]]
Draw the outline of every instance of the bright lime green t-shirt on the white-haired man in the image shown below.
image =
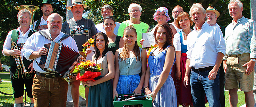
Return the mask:
[(132, 22), (130, 22), (129, 20), (123, 21), (118, 29), (118, 33), (117, 35), (119, 36), (123, 36), (123, 30), (125, 30), (125, 27), (129, 26), (129, 25), (133, 25), (134, 28), (136, 29), (137, 32), (137, 43), (139, 47), (142, 47), (142, 45), (140, 45), (139, 41), (142, 39), (141, 37), (141, 33), (146, 33), (147, 29), (148, 29), (148, 25), (142, 21), (140, 21), (139, 24), (134, 24)]

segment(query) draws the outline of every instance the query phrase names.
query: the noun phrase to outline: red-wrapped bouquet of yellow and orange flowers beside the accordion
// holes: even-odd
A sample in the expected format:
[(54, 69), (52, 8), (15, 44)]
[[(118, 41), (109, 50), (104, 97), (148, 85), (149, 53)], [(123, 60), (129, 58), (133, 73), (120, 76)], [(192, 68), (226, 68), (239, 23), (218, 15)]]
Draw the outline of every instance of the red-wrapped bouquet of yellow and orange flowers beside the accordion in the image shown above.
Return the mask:
[(91, 60), (79, 63), (75, 69), (74, 73), (77, 74), (76, 80), (80, 81), (95, 81), (94, 78), (101, 75), (102, 68), (99, 65), (94, 64)]

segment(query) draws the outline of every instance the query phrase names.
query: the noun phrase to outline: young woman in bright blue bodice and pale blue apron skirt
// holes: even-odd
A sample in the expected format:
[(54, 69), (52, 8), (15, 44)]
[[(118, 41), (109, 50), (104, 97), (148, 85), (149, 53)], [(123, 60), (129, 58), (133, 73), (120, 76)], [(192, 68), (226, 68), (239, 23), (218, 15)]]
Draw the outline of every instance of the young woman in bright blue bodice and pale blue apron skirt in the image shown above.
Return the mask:
[(173, 33), (167, 24), (160, 24), (154, 32), (158, 47), (150, 52), (145, 75), (145, 93), (152, 93), (153, 107), (176, 107), (176, 90), (171, 77), (176, 60)]

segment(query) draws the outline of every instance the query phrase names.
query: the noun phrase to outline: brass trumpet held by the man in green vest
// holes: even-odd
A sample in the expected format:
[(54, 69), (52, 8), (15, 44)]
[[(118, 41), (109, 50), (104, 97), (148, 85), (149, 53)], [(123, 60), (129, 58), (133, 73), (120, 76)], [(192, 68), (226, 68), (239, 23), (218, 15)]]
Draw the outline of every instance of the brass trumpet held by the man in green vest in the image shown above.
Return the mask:
[[(11, 50), (13, 50), (13, 49), (18, 49), (18, 46), (17, 46), (17, 43), (13, 42), (12, 38), (11, 38)], [(20, 69), (21, 66), (23, 67), (23, 73), (22, 74), (27, 73), (27, 70), (26, 70), (26, 68), (25, 68), (25, 66), (23, 64), (23, 61), (22, 61), (22, 57), (19, 55), (18, 58), (14, 57), (14, 59), (15, 59), (15, 62), (17, 64), (17, 68), (18, 69)]]

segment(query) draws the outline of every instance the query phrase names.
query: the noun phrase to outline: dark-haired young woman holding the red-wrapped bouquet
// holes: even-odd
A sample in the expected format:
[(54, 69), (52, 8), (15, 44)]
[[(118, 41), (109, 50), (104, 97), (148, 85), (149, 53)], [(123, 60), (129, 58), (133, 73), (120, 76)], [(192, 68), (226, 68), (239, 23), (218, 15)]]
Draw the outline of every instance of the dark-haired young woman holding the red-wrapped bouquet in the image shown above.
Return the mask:
[(88, 107), (113, 107), (112, 84), (114, 78), (114, 55), (108, 49), (108, 36), (99, 32), (94, 37), (94, 55), (92, 61), (103, 70), (96, 81), (83, 81), (82, 84), (89, 86)]

